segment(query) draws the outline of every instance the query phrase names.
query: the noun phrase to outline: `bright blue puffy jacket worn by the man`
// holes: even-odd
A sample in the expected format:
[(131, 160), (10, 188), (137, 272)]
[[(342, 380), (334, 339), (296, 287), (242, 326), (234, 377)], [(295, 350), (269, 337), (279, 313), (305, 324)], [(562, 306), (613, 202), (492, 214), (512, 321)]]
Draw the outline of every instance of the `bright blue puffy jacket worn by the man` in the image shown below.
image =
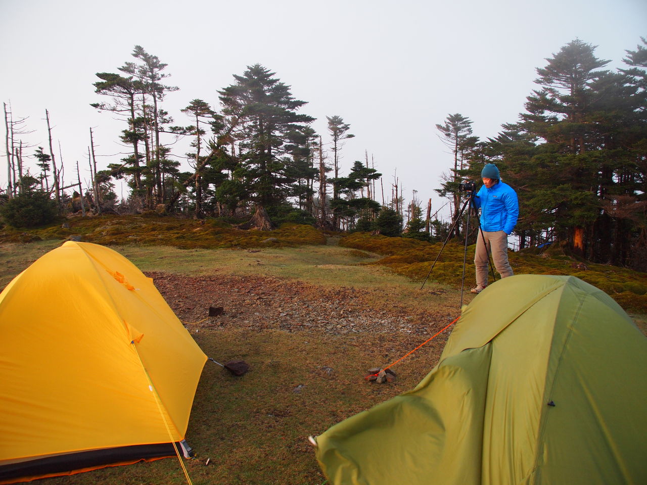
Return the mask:
[(517, 193), (508, 184), (499, 180), (490, 189), (482, 186), (474, 197), (474, 205), (481, 208), (482, 230), (512, 233), (519, 217), (519, 202)]

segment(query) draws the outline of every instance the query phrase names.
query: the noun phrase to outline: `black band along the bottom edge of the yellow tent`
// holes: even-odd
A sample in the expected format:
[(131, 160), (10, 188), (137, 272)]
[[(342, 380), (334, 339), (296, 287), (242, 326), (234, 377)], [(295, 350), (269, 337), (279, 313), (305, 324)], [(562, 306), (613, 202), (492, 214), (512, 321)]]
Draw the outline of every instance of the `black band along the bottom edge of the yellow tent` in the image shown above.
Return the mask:
[[(181, 443), (175, 443), (183, 451)], [(190, 449), (190, 448), (189, 448)], [(10, 463), (0, 466), (0, 483), (24, 481), (52, 475), (70, 475), (82, 469), (102, 468), (104, 466), (134, 463), (140, 460), (175, 456), (172, 443), (142, 444), (116, 448), (93, 449), (67, 455), (36, 458), (26, 462)]]

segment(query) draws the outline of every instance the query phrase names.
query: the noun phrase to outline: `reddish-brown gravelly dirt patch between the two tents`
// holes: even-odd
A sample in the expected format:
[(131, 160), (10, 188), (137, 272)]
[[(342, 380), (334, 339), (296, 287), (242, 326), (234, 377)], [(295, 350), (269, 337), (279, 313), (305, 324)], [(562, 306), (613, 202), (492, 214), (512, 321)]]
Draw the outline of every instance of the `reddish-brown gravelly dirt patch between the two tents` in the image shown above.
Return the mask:
[[(192, 277), (162, 272), (148, 276), (187, 327), (424, 336), (453, 319), (446, 312), (404, 305), (388, 295), (376, 299), (375, 292), (344, 286), (329, 288), (264, 276)], [(224, 312), (209, 317), (209, 307), (223, 307)]]

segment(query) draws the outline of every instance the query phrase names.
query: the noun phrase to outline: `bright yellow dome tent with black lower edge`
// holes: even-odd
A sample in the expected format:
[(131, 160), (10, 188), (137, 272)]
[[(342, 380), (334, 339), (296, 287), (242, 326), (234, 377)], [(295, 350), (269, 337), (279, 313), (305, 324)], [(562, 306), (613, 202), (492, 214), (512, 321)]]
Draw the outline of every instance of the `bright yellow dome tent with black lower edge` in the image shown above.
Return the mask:
[(65, 242), (0, 294), (0, 483), (175, 455), (206, 356), (115, 251)]

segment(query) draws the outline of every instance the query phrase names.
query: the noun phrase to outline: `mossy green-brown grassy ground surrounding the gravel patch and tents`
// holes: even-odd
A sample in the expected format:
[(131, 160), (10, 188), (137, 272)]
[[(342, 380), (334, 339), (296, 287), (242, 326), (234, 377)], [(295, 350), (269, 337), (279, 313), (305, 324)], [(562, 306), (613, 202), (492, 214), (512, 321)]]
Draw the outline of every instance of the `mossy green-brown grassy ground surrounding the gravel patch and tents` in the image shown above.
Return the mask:
[[(92, 221), (93, 226), (87, 221), (74, 223), (72, 230), (0, 233), (0, 288), (59, 246), (61, 237), (69, 235), (62, 231), (83, 233), (88, 241), (109, 242), (145, 272), (197, 277), (263, 275), (321, 288), (361, 288), (362, 301), (375, 312), (388, 305), (405, 313), (433, 308), (443, 318), (459, 314), (462, 246), (448, 245), (432, 279), (421, 290), (421, 279), (439, 245), (355, 235), (344, 238), (344, 246), (337, 246), (324, 244), (323, 235), (303, 228), (270, 235), (254, 233), (253, 241), (225, 229), (226, 237), (215, 244), (215, 224), (207, 226), (212, 237), (195, 221), (178, 223), (177, 232), (154, 225), (155, 234), (133, 235), (122, 230), (115, 219), (106, 220), (109, 224), (103, 226), (98, 221)], [(130, 230), (152, 231), (151, 226), (137, 224)], [(192, 241), (192, 233), (199, 244)], [(270, 236), (276, 241), (267, 241)], [(297, 244), (300, 237), (306, 246)], [(135, 244), (130, 243), (133, 239), (137, 239)], [(226, 244), (221, 244), (224, 239)], [(641, 311), (644, 294), (640, 294), (647, 281), (644, 274), (591, 265), (587, 275), (581, 267), (573, 266), (573, 260), (558, 253), (550, 257), (512, 255), (511, 259), (515, 269), (523, 268), (521, 272), (579, 272), (593, 279), (606, 278), (606, 283), (616, 285), (611, 289), (619, 290), (616, 296), (630, 294), (624, 304), (647, 333), (647, 319)], [(467, 281), (471, 281), (473, 268), (469, 264), (467, 272)], [(464, 297), (468, 303), (472, 296)], [(179, 317), (184, 319), (181, 314)], [(186, 435), (197, 453), (195, 460), (185, 462), (196, 485), (324, 484), (306, 437), (414, 387), (435, 365), (446, 339), (446, 335), (439, 336), (394, 367), (398, 382), (375, 385), (364, 381), (367, 369), (391, 363), (426, 338), (406, 332), (334, 334), (235, 326), (190, 327), (190, 331), (209, 356), (241, 358), (251, 367), (243, 378), (234, 378), (210, 362), (204, 368)], [(41, 480), (46, 485), (186, 482), (173, 458)]]

